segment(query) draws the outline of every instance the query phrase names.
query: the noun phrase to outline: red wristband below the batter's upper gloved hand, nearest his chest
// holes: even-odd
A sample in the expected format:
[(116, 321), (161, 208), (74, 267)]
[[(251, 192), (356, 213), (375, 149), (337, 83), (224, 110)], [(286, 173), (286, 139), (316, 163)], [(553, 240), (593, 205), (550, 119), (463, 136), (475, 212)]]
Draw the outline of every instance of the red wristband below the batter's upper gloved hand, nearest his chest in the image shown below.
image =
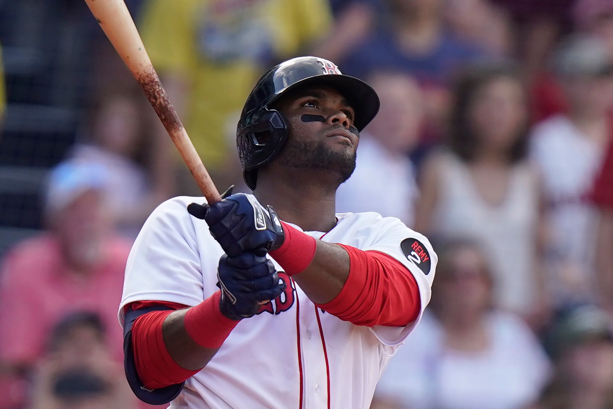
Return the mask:
[(284, 231), (283, 243), (268, 254), (283, 267), (287, 275), (302, 273), (315, 257), (317, 240), (283, 221), (281, 225)]

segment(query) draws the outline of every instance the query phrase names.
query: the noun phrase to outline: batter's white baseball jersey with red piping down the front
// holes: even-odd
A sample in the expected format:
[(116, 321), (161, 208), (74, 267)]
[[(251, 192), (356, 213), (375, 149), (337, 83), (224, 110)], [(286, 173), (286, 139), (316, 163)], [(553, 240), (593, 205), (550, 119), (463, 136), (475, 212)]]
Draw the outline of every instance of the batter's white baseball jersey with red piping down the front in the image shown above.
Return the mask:
[[(140, 231), (126, 266), (123, 307), (139, 300), (194, 306), (218, 291), (223, 250), (204, 220), (189, 215), (202, 197), (161, 204)], [(377, 250), (413, 273), (421, 312), (406, 327), (365, 327), (323, 312), (274, 262), (286, 291), (240, 321), (216, 355), (186, 381), (173, 409), (367, 409), (390, 357), (430, 301), (436, 254), (428, 240), (397, 218), (339, 213), (329, 232), (306, 234), (361, 250)], [(300, 229), (299, 226), (294, 226)], [(405, 255), (406, 254), (406, 255)]]

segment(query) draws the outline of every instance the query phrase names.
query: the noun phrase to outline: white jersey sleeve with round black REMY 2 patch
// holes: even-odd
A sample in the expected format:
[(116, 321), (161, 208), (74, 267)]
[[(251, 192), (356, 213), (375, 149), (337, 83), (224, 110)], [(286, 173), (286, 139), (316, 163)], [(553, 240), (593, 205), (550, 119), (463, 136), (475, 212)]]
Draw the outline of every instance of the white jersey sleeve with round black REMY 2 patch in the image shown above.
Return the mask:
[(386, 346), (400, 345), (421, 320), (425, 307), (430, 302), (432, 281), (438, 257), (432, 245), (422, 234), (405, 226), (397, 218), (381, 220), (381, 233), (370, 246), (361, 250), (376, 250), (400, 261), (415, 277), (419, 287), (421, 309), (417, 319), (405, 327), (374, 326), (371, 331), (379, 342)]

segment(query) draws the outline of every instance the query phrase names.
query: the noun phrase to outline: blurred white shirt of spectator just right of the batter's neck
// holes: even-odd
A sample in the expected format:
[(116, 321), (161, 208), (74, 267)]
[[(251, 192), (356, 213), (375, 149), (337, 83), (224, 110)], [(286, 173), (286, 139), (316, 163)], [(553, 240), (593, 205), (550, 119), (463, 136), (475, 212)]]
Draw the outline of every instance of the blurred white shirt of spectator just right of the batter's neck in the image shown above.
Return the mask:
[(337, 190), (337, 211), (377, 212), (413, 226), (418, 194), (408, 156), (390, 155), (376, 139), (362, 132), (356, 170)]

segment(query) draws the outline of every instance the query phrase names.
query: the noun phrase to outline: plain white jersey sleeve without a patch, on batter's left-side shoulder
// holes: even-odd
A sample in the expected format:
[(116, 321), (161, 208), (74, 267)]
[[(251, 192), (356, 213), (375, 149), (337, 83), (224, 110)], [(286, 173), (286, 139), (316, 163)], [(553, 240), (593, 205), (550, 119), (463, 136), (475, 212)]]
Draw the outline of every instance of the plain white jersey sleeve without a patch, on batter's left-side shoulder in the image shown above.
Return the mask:
[[(200, 258), (205, 255), (200, 254), (198, 243), (207, 238), (197, 237), (187, 211), (192, 201), (185, 197), (170, 199), (159, 205), (143, 225), (126, 265), (120, 323), (123, 307), (135, 301), (156, 300), (192, 307), (204, 300)], [(208, 239), (215, 245), (210, 235)]]

